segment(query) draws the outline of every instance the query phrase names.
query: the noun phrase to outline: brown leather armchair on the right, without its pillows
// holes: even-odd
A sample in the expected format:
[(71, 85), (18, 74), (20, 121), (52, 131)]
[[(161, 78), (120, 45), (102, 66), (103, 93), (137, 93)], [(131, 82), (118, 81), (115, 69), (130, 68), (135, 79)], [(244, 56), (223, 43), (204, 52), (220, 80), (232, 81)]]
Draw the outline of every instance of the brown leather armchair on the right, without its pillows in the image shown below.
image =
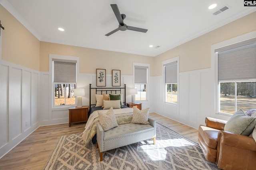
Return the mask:
[(224, 170), (255, 170), (256, 143), (252, 137), (224, 131), (227, 121), (206, 117), (198, 128), (198, 144), (206, 160)]

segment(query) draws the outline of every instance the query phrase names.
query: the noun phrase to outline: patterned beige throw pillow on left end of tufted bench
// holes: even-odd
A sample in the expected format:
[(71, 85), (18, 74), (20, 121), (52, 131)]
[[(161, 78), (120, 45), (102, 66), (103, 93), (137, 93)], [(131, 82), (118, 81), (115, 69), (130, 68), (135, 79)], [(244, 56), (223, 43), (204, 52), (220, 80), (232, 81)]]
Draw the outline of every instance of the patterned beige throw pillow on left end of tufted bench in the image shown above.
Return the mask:
[(107, 113), (98, 111), (98, 115), (99, 115), (100, 125), (104, 132), (118, 126), (116, 121), (116, 116), (112, 107), (108, 110)]

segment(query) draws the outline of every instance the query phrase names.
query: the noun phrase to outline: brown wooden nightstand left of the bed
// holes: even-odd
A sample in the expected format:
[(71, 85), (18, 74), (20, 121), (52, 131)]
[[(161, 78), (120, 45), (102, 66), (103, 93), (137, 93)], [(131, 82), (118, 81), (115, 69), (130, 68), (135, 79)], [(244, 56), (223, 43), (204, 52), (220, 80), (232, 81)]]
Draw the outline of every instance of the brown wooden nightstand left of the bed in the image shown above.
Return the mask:
[(88, 120), (88, 107), (89, 106), (82, 106), (82, 107), (69, 107), (69, 126), (71, 123), (78, 123)]

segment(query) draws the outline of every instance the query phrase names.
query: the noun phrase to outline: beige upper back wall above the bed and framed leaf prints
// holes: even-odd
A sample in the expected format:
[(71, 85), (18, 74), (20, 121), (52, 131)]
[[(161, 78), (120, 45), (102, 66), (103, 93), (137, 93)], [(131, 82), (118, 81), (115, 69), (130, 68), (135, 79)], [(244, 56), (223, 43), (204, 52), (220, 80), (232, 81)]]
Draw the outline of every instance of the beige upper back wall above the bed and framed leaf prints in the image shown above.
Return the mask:
[(96, 74), (96, 68), (106, 69), (106, 74), (121, 70), (122, 75), (132, 75), (132, 63), (152, 65), (153, 57), (119, 53), (71, 45), (40, 42), (40, 71), (49, 71), (49, 54), (79, 57), (80, 73)]

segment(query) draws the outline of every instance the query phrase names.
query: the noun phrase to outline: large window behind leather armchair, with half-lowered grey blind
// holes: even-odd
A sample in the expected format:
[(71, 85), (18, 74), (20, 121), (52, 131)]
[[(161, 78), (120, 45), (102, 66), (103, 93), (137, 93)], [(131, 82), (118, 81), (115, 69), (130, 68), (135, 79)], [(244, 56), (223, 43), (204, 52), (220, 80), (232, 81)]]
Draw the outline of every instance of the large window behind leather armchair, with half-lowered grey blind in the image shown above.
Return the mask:
[(218, 56), (218, 112), (256, 108), (256, 38), (215, 49)]

